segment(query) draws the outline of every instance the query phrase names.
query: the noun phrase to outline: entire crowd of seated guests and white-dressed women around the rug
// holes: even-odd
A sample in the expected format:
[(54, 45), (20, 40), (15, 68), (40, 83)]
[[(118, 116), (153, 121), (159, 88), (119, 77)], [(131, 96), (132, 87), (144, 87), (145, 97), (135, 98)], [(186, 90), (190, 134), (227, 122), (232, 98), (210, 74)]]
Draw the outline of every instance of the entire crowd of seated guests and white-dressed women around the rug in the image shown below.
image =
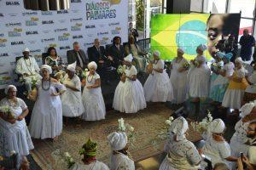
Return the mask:
[[(213, 54), (214, 60), (209, 66), (204, 56), (207, 46), (200, 44), (195, 59), (190, 61), (183, 57), (183, 49), (177, 48), (169, 77), (159, 51), (154, 51), (153, 59), (148, 61), (132, 35), (125, 47), (120, 43), (120, 37), (114, 37), (113, 45), (106, 50), (96, 39), (87, 57), (79, 43), (74, 42), (73, 50), (67, 51), (67, 68), (55, 48), (49, 48), (49, 56), (40, 68), (25, 48), (24, 56), (17, 61), (16, 73), (26, 86), (27, 98), (35, 102), (31, 122), (26, 127), (25, 117), (29, 111), (24, 100), (16, 97), (17, 88), (7, 86), (6, 97), (0, 102), (1, 156), (12, 156), (15, 150), (21, 156), (20, 165), (27, 165), (24, 156), (34, 148), (32, 138), (56, 141), (62, 131), (62, 116), (85, 121), (105, 119), (101, 85), (102, 80), (109, 81), (106, 71), (113, 67), (122, 70), (113, 97), (116, 111), (131, 114), (146, 108), (146, 102), (183, 104), (187, 99), (201, 102), (201, 99), (210, 98), (220, 109), (230, 108), (235, 110), (234, 116), (241, 116), (230, 144), (223, 137), (224, 122), (213, 120), (202, 135), (205, 144), (201, 149), (186, 139), (188, 122), (182, 116), (175, 119), (168, 129), (167, 155), (160, 165), (161, 170), (207, 169), (206, 157), (210, 158), (214, 169), (256, 168), (256, 71), (249, 74), (240, 57), (233, 63), (230, 61), (232, 53), (220, 51)], [(146, 70), (149, 76), (142, 85), (137, 73)], [(108, 141), (113, 150), (110, 169), (135, 169), (127, 152), (126, 134), (111, 133)], [(83, 149), (84, 164), (76, 163), (71, 169), (108, 169), (104, 163), (96, 161), (96, 143), (89, 140)]]

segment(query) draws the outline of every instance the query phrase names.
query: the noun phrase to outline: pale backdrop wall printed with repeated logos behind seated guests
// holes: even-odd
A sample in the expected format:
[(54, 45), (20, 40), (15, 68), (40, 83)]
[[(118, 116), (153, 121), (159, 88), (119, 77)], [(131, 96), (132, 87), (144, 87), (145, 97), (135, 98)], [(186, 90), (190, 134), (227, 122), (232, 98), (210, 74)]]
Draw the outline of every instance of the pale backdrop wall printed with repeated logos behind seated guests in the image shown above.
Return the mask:
[(73, 42), (87, 50), (98, 37), (102, 45), (115, 36), (127, 42), (127, 0), (71, 0), (68, 10), (32, 11), (23, 0), (0, 0), (0, 88), (14, 83), (15, 58), (30, 48), (38, 64), (49, 46), (67, 61)]

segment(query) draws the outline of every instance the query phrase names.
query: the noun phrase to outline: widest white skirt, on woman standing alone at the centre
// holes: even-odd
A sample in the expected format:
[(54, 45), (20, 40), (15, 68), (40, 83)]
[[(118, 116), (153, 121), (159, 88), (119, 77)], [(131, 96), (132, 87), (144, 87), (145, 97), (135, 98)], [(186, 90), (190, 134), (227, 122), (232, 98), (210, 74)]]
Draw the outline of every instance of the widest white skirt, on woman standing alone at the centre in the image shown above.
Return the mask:
[(147, 104), (142, 83), (138, 80), (131, 81), (127, 79), (125, 83), (122, 83), (119, 82), (119, 85), (115, 89), (113, 100), (114, 110), (125, 113), (137, 113), (137, 111), (145, 109)]

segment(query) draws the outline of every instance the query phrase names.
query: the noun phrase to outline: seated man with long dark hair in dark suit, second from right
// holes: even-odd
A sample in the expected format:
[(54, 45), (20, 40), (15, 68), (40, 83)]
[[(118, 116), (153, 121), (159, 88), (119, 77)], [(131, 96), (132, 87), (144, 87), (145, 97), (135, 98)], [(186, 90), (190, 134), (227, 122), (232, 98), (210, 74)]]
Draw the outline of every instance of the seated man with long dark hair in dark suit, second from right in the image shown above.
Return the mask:
[(108, 55), (113, 58), (113, 66), (118, 68), (125, 57), (125, 48), (121, 45), (121, 37), (113, 37), (113, 45), (108, 49)]

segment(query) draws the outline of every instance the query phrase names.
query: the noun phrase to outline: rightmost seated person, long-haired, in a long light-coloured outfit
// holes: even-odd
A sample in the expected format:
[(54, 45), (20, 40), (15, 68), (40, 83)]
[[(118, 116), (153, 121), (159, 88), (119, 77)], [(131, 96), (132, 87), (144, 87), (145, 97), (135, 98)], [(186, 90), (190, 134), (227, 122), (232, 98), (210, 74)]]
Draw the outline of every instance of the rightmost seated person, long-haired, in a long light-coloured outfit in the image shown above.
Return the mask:
[(135, 39), (132, 35), (129, 36), (128, 43), (125, 45), (125, 55), (132, 54), (132, 56), (137, 59), (137, 67), (138, 72), (145, 71), (147, 66), (147, 60), (143, 55), (144, 53), (136, 44)]

